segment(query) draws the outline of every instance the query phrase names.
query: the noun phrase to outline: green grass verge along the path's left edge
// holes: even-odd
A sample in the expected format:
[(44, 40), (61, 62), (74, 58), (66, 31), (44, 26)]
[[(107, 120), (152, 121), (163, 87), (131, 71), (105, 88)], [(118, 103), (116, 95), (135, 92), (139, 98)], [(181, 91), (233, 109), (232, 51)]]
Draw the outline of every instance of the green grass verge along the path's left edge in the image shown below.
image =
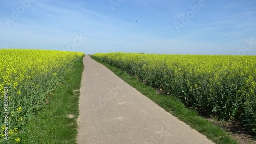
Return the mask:
[(81, 58), (65, 83), (50, 93), (44, 108), (29, 119), (20, 143), (76, 143), (82, 71)]

